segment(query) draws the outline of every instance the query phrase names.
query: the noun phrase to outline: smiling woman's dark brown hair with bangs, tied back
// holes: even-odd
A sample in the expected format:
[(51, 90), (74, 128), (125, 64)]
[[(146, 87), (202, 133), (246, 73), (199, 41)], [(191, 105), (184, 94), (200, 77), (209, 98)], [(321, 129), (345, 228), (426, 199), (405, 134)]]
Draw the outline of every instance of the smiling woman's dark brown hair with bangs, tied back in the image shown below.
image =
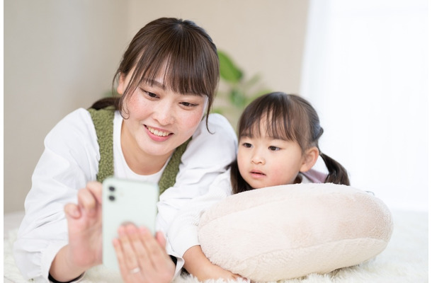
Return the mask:
[(113, 90), (119, 76), (134, 67), (123, 96), (98, 100), (92, 108), (115, 105), (122, 111), (123, 101), (142, 81), (152, 83), (163, 71), (164, 82), (172, 91), (208, 97), (208, 120), (219, 81), (219, 58), (215, 44), (203, 28), (178, 18), (158, 18), (147, 23), (123, 54), (113, 78)]

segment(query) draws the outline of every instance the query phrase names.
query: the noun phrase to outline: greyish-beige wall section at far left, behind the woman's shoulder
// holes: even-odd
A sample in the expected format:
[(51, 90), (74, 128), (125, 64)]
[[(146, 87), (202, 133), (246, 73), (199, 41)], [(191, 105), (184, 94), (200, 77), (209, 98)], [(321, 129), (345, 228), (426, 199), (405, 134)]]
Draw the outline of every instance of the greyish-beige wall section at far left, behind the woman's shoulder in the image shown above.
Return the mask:
[(47, 132), (110, 91), (122, 1), (4, 1), (4, 212), (23, 209)]

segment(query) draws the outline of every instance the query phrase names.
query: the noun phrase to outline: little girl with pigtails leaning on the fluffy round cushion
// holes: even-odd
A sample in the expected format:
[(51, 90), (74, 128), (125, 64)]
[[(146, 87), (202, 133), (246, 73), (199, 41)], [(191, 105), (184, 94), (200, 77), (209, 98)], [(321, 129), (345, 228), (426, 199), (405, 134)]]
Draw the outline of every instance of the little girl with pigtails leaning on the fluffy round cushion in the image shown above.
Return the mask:
[[(228, 195), (247, 190), (295, 183), (336, 183), (349, 185), (341, 164), (319, 150), (323, 133), (317, 112), (307, 100), (286, 93), (268, 93), (246, 107), (239, 119), (237, 160), (230, 170), (218, 176), (207, 195), (198, 197), (183, 209), (169, 229), (168, 237), (184, 267), (200, 280), (234, 279), (221, 267), (205, 258), (197, 226), (200, 214)], [(321, 156), (329, 173), (319, 177), (310, 170)], [(192, 248), (188, 248), (192, 247)]]

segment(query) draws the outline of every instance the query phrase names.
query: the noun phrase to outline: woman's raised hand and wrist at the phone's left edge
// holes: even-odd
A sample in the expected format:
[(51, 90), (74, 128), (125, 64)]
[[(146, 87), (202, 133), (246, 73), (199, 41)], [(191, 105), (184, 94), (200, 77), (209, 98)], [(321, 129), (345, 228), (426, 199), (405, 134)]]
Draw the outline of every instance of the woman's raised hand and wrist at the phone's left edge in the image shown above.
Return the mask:
[(52, 262), (50, 275), (67, 282), (102, 263), (102, 184), (91, 182), (78, 191), (78, 203), (66, 204), (69, 243)]

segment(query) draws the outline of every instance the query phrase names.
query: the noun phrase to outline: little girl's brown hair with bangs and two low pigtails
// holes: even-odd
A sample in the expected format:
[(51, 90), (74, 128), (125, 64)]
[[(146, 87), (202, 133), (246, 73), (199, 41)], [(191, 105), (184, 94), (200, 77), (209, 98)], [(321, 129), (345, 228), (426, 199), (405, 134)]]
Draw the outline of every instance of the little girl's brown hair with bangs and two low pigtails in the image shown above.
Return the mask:
[[(324, 129), (319, 124), (317, 111), (304, 98), (282, 92), (268, 93), (256, 98), (241, 114), (237, 127), (239, 137), (259, 136), (261, 120), (267, 122), (266, 131), (269, 136), (295, 141), (302, 151), (312, 146), (319, 149), (318, 139)], [(348, 173), (341, 164), (321, 151), (319, 155), (329, 170), (324, 183), (350, 184)], [(234, 194), (251, 190), (250, 185), (241, 178), (237, 160), (231, 164), (231, 183)]]

